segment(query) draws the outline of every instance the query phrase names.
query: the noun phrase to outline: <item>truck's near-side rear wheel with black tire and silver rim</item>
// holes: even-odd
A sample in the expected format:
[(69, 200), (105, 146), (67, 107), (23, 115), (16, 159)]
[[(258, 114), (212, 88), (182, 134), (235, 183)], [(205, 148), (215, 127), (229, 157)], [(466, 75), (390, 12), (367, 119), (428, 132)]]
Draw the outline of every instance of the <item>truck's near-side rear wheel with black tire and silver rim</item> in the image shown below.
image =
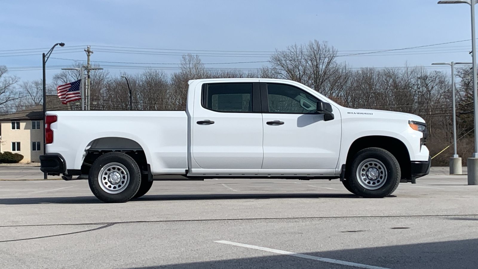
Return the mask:
[[(101, 183), (98, 180), (100, 172), (103, 176)], [(114, 184), (109, 179), (119, 181)], [(130, 156), (121, 152), (109, 152), (93, 162), (88, 183), (93, 194), (103, 202), (127, 202), (140, 189), (141, 170)]]

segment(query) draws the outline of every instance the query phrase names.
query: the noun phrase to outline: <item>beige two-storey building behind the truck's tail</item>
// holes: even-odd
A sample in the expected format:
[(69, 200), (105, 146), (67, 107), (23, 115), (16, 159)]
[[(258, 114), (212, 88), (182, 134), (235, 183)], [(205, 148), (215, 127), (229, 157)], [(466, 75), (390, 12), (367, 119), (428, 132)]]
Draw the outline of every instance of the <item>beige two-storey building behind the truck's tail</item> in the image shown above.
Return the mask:
[(43, 108), (36, 106), (0, 116), (0, 152), (23, 155), (22, 163), (40, 162), (43, 154)]

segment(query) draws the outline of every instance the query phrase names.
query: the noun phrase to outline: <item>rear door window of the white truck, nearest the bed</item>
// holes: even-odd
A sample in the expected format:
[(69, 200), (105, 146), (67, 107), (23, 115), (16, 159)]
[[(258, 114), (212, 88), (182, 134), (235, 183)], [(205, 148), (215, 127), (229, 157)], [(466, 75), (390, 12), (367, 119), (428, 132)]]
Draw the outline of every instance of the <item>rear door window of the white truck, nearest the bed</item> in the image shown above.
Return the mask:
[(202, 103), (217, 112), (252, 112), (252, 83), (206, 84)]

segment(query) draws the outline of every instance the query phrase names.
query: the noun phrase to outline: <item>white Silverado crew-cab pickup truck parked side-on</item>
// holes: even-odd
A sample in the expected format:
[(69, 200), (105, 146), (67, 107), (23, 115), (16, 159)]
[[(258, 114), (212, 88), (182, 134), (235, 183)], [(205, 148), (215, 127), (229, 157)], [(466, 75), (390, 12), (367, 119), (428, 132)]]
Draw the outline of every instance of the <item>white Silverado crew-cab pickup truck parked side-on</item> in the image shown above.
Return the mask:
[(428, 174), (424, 120), (351, 109), (282, 79), (189, 81), (186, 111), (49, 111), (41, 170), (88, 179), (104, 202), (153, 180), (340, 179), (385, 197)]

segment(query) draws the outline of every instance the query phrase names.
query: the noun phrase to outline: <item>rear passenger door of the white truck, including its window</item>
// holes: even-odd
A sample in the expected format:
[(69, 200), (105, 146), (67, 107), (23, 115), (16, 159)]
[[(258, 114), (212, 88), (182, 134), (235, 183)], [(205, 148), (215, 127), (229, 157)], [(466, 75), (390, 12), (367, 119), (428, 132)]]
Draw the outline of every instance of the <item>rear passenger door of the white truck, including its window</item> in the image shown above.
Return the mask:
[(203, 84), (195, 102), (192, 156), (205, 169), (260, 169), (262, 114), (259, 83)]

